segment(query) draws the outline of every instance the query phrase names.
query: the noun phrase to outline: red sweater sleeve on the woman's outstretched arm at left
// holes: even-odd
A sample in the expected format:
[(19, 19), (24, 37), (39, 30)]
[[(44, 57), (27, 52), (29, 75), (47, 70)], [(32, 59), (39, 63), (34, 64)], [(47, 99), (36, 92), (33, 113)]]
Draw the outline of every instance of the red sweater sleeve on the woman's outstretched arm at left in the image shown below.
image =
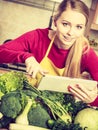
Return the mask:
[(31, 31), (0, 45), (0, 63), (24, 63), (26, 58), (33, 56), (30, 47), (34, 49), (35, 35), (35, 31)]

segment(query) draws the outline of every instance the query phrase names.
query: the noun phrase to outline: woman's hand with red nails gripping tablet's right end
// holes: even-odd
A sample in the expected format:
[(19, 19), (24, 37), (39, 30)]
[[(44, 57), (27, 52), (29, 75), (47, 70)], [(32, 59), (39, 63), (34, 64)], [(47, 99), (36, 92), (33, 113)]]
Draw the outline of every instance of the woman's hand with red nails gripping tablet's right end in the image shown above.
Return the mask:
[(76, 98), (86, 102), (91, 103), (97, 97), (97, 86), (95, 86), (92, 90), (89, 88), (85, 88), (82, 85), (76, 84), (75, 86), (68, 86), (68, 90), (72, 93)]

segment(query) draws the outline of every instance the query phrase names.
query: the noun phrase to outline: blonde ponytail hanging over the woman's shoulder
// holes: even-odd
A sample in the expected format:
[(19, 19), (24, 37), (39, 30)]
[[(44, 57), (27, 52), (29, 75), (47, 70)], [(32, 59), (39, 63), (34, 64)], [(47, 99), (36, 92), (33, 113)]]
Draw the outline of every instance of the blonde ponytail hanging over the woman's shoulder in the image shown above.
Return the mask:
[(81, 77), (81, 58), (89, 50), (89, 42), (84, 37), (79, 37), (70, 49), (66, 63), (64, 76)]

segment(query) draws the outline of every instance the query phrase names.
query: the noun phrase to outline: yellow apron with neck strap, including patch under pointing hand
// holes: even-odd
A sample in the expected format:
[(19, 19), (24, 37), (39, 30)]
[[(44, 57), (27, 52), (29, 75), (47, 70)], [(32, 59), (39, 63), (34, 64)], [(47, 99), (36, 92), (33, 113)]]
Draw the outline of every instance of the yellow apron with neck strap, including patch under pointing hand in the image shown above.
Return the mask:
[[(65, 68), (57, 68), (54, 63), (48, 58), (48, 54), (50, 52), (50, 49), (52, 47), (52, 44), (54, 42), (55, 36), (52, 38), (49, 47), (47, 49), (47, 52), (44, 56), (44, 58), (42, 59), (42, 61), (40, 62), (40, 65), (42, 66), (42, 68), (44, 68), (45, 70), (48, 71), (49, 75), (54, 75), (54, 76), (63, 76), (64, 70)], [(40, 83), (41, 79), (42, 79), (43, 75), (41, 75), (40, 73), (37, 73), (36, 78), (35, 79), (30, 79), (29, 82), (35, 86), (38, 87), (38, 84)]]

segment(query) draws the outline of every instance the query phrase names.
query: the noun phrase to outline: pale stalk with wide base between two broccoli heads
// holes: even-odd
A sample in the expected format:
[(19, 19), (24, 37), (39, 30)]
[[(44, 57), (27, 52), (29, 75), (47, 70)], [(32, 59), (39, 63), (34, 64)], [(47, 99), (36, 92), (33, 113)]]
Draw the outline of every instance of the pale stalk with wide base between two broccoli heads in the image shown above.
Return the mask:
[(32, 105), (32, 100), (28, 99), (28, 102), (23, 110), (23, 112), (16, 118), (16, 123), (18, 124), (25, 124), (28, 125), (29, 121), (28, 121), (28, 112), (31, 108)]

